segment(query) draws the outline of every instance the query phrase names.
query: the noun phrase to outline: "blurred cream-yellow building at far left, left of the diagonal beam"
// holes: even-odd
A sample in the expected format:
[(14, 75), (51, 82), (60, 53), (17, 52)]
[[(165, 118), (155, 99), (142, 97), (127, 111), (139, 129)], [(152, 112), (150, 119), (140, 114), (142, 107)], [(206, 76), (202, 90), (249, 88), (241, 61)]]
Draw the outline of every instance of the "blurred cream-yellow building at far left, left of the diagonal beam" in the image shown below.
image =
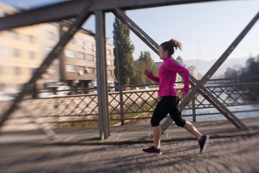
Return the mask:
[[(5, 16), (18, 12), (0, 3), (0, 14)], [(24, 27), (0, 32), (0, 90), (17, 93), (38, 68), (40, 56), (39, 31), (37, 27)]]

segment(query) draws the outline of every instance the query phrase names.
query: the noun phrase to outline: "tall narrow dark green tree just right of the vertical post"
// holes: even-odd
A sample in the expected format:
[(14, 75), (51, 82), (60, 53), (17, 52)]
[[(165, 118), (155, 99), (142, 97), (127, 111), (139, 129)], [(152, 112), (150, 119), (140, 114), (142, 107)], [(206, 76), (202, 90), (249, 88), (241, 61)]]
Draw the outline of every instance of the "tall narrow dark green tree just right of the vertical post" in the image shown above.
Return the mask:
[(115, 76), (118, 79), (118, 85), (133, 84), (133, 51), (134, 45), (129, 39), (130, 30), (117, 17), (113, 23), (113, 44), (115, 53)]

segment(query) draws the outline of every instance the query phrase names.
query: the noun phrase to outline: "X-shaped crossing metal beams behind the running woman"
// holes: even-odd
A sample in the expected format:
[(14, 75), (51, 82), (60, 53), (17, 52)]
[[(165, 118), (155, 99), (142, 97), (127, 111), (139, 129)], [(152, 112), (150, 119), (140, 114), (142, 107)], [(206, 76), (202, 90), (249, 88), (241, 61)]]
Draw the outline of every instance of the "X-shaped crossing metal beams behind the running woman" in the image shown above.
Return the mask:
[[(126, 24), (130, 30), (138, 36), (144, 43), (146, 43), (153, 51), (158, 53), (159, 45), (151, 39), (140, 27), (138, 27), (122, 10), (115, 9), (112, 11), (113, 14), (118, 17), (124, 24)], [(193, 99), (195, 94), (199, 92), (205, 99), (207, 99), (215, 108), (222, 113), (235, 127), (249, 130), (229, 109), (227, 109), (218, 99), (206, 88), (204, 84), (213, 76), (220, 65), (226, 60), (229, 54), (234, 48), (241, 42), (249, 30), (254, 26), (259, 18), (258, 14), (252, 19), (252, 21), (245, 27), (245, 29), (239, 34), (233, 43), (224, 51), (224, 53), (218, 58), (216, 63), (210, 68), (210, 70), (204, 75), (201, 81), (197, 81), (192, 75), (190, 75), (190, 84), (193, 87), (189, 93), (189, 97), (180, 103), (180, 109), (183, 108)], [(161, 125), (162, 132), (164, 132), (173, 120), (171, 117), (167, 118), (166, 121)]]

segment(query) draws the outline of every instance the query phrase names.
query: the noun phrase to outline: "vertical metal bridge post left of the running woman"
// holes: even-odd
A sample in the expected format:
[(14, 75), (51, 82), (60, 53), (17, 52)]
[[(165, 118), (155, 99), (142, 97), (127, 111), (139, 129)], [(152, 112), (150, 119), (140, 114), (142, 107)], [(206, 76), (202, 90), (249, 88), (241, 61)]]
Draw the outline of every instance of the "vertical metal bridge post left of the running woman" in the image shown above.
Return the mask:
[(96, 18), (96, 71), (99, 111), (99, 131), (101, 140), (107, 139), (110, 132), (110, 118), (108, 109), (108, 87), (107, 87), (107, 60), (105, 39), (105, 17), (101, 10), (95, 11)]

